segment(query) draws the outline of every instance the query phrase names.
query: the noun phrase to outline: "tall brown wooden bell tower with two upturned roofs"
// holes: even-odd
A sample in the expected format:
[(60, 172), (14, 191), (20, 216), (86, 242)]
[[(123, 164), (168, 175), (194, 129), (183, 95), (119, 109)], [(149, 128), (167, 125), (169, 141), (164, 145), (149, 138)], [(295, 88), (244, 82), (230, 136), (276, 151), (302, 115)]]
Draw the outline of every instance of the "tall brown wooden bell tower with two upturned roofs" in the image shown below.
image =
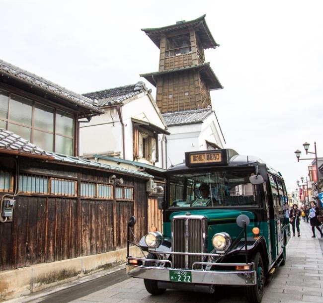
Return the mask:
[(212, 107), (210, 90), (223, 88), (205, 62), (204, 49), (219, 46), (205, 15), (161, 28), (142, 29), (161, 50), (159, 71), (142, 74), (157, 87), (161, 113)]

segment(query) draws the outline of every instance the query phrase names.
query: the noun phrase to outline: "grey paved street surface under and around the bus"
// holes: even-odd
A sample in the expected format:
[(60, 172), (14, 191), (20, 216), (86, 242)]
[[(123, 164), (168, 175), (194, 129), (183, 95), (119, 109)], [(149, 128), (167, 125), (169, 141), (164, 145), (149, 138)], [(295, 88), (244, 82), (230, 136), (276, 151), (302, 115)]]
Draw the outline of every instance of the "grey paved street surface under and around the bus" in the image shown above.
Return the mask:
[[(308, 224), (301, 223), (301, 237), (287, 247), (286, 265), (276, 270), (265, 287), (262, 303), (323, 303), (323, 256), (318, 238), (311, 238)], [(128, 278), (124, 270), (24, 303), (246, 303), (242, 288), (218, 288), (215, 294), (167, 290), (151, 296), (141, 279)]]

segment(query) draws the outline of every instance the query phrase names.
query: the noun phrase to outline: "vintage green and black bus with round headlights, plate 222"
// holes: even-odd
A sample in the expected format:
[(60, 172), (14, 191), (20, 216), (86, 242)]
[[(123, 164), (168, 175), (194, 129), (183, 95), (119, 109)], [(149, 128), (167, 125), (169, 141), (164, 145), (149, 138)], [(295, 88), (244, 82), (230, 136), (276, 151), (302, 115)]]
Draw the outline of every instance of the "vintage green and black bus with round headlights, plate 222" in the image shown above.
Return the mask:
[(163, 232), (137, 242), (146, 256), (128, 255), (127, 274), (143, 278), (153, 295), (243, 286), (249, 302), (261, 302), (290, 238), (281, 174), (257, 157), (224, 149), (186, 152), (185, 163), (169, 168), (165, 179)]

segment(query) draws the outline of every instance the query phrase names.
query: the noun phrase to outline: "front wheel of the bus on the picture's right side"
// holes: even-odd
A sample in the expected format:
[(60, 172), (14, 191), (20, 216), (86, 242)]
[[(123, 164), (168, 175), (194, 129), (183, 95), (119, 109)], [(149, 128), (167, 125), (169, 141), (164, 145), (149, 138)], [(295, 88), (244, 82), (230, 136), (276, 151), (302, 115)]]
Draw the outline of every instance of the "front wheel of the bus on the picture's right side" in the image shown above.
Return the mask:
[(265, 271), (263, 268), (262, 258), (259, 252), (253, 257), (255, 271), (257, 273), (257, 283), (246, 288), (246, 296), (250, 303), (260, 303), (264, 292)]

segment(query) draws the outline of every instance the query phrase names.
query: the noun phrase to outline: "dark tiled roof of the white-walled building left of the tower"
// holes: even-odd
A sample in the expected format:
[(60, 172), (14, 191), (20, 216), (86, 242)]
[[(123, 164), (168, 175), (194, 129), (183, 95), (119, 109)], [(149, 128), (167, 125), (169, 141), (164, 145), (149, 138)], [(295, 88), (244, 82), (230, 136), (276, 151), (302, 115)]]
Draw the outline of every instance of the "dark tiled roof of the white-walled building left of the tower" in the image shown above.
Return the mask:
[(123, 101), (140, 94), (143, 91), (149, 91), (145, 82), (139, 81), (136, 84), (125, 85), (110, 89), (84, 93), (83, 95), (90, 99), (96, 99), (99, 106), (109, 106), (121, 104)]

